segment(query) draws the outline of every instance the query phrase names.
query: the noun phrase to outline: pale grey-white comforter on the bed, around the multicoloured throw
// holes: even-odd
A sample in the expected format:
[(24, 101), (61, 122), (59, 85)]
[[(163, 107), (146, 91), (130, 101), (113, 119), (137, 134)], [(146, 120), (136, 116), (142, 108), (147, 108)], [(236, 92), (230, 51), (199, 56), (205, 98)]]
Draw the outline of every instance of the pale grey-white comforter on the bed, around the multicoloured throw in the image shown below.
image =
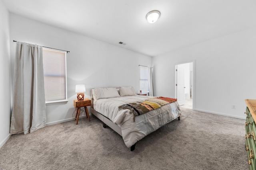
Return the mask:
[(118, 110), (118, 106), (146, 100), (148, 97), (136, 95), (98, 99), (94, 100), (93, 107), (95, 111), (108, 117), (108, 119), (121, 127), (124, 143), (127, 147), (131, 147), (146, 135), (180, 116), (181, 111), (178, 102), (173, 102), (136, 116), (135, 121), (133, 120), (134, 115), (130, 113), (130, 110)]

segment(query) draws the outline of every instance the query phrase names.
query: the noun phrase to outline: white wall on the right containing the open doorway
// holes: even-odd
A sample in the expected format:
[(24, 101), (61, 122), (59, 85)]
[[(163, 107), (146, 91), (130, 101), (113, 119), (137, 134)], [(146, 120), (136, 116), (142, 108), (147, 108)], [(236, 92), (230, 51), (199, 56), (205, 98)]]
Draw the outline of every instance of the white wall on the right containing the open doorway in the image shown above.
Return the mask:
[(153, 57), (154, 94), (174, 97), (174, 64), (193, 60), (194, 109), (245, 119), (244, 99), (256, 99), (256, 27)]

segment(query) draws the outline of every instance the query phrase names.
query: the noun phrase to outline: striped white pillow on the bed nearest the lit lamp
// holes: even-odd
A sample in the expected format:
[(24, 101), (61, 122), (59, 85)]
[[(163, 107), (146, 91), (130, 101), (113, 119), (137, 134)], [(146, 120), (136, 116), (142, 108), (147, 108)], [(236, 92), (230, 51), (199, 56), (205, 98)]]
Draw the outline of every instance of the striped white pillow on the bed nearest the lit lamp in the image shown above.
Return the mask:
[(118, 91), (116, 88), (95, 88), (94, 90), (95, 99), (106, 99), (106, 98), (115, 98), (119, 97)]

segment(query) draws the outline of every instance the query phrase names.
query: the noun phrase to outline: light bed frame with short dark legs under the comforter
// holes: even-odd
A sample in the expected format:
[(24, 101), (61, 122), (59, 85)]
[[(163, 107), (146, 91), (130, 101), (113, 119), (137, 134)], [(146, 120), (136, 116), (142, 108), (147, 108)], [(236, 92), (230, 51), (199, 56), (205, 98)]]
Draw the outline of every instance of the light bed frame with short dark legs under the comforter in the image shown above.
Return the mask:
[[(92, 96), (92, 90), (91, 90), (91, 98), (92, 98), (92, 105), (91, 105), (91, 113), (98, 117), (98, 119), (100, 119), (103, 123), (103, 127), (106, 128), (106, 125), (108, 127), (110, 127), (111, 129), (113, 129), (114, 131), (116, 131), (116, 133), (118, 133), (119, 135), (122, 136), (122, 130), (121, 127), (119, 127), (118, 125), (116, 125), (116, 123), (113, 123), (110, 119), (108, 119), (107, 117), (105, 117), (104, 115), (100, 114), (98, 111), (95, 111), (93, 108), (93, 96)], [(180, 120), (180, 116), (175, 117), (175, 119), (178, 118), (178, 120)], [(131, 151), (133, 151), (135, 149), (135, 145), (131, 146)]]

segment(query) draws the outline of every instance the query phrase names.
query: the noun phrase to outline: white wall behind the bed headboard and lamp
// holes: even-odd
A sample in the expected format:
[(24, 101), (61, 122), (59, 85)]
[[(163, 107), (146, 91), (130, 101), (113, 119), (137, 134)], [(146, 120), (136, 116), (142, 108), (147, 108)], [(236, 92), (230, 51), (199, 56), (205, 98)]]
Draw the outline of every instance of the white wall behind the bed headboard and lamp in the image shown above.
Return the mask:
[(71, 120), (75, 116), (73, 100), (76, 99), (76, 84), (85, 84), (86, 98), (90, 98), (90, 89), (95, 87), (134, 86), (139, 92), (138, 65), (151, 66), (152, 62), (151, 57), (10, 14), (12, 82), (15, 57), (12, 40), (70, 51), (67, 54), (68, 103), (46, 107), (48, 125)]

